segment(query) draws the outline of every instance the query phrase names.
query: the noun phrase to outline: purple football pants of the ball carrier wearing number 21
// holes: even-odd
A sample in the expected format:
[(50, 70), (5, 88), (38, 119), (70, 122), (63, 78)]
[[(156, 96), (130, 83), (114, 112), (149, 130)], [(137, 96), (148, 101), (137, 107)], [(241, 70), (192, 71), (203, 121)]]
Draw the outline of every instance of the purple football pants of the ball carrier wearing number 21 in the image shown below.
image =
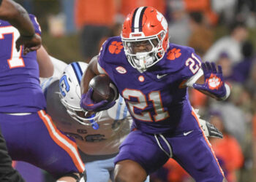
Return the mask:
[[(130, 132), (120, 146), (115, 164), (121, 160), (131, 159), (138, 162), (150, 175), (167, 162), (169, 159), (167, 154), (170, 154), (195, 181), (223, 181), (224, 175), (219, 162), (196, 121), (193, 130), (184, 130), (175, 135), (163, 134), (162, 136), (169, 143), (172, 149), (171, 153), (160, 135), (155, 136), (140, 130)], [(160, 149), (159, 145), (167, 154)]]

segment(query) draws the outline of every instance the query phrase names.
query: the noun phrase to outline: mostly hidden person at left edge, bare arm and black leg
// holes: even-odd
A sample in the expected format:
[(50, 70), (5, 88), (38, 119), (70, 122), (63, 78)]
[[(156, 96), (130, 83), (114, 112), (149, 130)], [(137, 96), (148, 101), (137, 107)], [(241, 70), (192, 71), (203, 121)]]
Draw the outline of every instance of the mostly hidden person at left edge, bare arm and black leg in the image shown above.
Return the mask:
[[(28, 12), (26, 12), (20, 4), (10, 0), (0, 0), (0, 19), (7, 20), (15, 26), (20, 32), (20, 39), (18, 49), (21, 44), (30, 43), (32, 47), (40, 47), (41, 38), (34, 32), (33, 24), (29, 19)], [(23, 38), (27, 38), (24, 41)], [(23, 41), (22, 41), (23, 40)], [(27, 48), (31, 48), (30, 46)], [(12, 168), (12, 159), (7, 151), (7, 146), (0, 130), (0, 181), (24, 181), (20, 173)]]

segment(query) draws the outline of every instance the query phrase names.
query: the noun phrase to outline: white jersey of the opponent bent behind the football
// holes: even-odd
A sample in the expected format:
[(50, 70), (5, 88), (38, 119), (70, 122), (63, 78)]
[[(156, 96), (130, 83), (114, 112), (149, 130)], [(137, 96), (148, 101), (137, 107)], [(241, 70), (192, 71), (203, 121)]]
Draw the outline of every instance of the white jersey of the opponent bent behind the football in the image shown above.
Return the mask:
[(132, 118), (127, 111), (124, 98), (116, 100), (116, 105), (102, 111), (97, 118), (99, 128), (79, 124), (67, 114), (59, 97), (59, 79), (41, 80), (42, 90), (47, 100), (47, 112), (62, 132), (75, 138), (80, 151), (89, 155), (108, 155), (118, 153), (118, 147), (129, 133)]

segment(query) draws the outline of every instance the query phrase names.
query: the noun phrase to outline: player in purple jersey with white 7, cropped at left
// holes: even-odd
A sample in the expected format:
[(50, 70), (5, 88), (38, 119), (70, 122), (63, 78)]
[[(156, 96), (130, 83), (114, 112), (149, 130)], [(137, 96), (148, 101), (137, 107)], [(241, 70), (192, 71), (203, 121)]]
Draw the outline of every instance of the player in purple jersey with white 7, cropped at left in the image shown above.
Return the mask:
[[(36, 17), (29, 17), (39, 36)], [(54, 127), (44, 111), (38, 67), (42, 60), (50, 58), (42, 46), (33, 51), (36, 47), (30, 50), (25, 44), (28, 49), (16, 50), (19, 37), (14, 26), (0, 20), (0, 125), (9, 154), (14, 160), (48, 171), (60, 181), (77, 181), (84, 171), (77, 146)], [(26, 39), (23, 35), (21, 38)]]

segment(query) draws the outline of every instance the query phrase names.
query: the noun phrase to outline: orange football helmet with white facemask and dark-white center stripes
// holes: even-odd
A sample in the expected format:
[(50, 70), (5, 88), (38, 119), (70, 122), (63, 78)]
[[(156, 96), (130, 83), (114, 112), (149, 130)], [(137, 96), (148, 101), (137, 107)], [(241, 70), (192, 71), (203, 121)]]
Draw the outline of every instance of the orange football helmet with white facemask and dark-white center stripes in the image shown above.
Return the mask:
[[(167, 21), (153, 7), (138, 7), (124, 20), (121, 40), (132, 67), (146, 71), (164, 57), (169, 46)], [(144, 49), (138, 51), (139, 47)]]

